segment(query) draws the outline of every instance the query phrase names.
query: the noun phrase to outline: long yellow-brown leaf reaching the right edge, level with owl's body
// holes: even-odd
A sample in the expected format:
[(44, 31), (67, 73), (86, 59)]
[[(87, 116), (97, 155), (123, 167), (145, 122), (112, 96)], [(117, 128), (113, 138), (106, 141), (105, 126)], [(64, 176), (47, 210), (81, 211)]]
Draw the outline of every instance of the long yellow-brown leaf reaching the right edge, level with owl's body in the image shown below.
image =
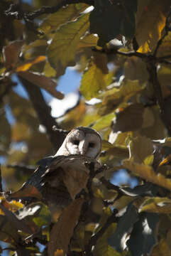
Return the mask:
[(123, 166), (132, 171), (133, 174), (144, 178), (146, 181), (155, 183), (158, 186), (162, 186), (171, 191), (171, 179), (165, 178), (162, 174), (155, 174), (155, 171), (150, 166), (145, 166), (144, 164), (135, 164), (133, 161), (124, 160)]

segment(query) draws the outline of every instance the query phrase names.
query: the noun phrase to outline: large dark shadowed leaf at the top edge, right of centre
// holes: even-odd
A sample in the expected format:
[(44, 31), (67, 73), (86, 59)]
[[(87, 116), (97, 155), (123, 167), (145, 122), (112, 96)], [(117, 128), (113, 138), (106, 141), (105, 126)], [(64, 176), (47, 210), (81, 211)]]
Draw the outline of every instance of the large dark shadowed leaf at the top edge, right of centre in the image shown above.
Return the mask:
[[(90, 20), (90, 32), (99, 36), (99, 46), (111, 41), (119, 34), (131, 38), (135, 28), (136, 0), (114, 1), (95, 0)], [(103, 17), (103, 18), (102, 18)]]

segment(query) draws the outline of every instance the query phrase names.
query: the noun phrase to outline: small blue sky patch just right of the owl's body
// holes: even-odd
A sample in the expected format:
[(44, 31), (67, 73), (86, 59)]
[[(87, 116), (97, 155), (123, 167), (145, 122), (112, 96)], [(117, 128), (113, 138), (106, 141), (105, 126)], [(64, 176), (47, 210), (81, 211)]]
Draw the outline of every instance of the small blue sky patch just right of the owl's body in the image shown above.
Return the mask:
[(114, 174), (114, 176), (111, 178), (111, 183), (116, 186), (119, 186), (121, 184), (129, 184), (131, 188), (134, 188), (138, 185), (137, 179), (129, 176), (127, 171), (124, 169), (121, 169)]

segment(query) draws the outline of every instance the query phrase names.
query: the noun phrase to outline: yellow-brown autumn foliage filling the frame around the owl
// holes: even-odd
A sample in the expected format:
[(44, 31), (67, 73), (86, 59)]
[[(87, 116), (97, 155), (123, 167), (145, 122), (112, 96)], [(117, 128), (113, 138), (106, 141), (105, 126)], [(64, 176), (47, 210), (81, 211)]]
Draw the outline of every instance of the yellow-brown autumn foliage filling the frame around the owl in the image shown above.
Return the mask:
[[(0, 14), (1, 254), (171, 255), (170, 1), (1, 0)], [(82, 97), (58, 120), (43, 90), (62, 100), (69, 66)], [(86, 188), (57, 216), (33, 183), (18, 188), (79, 125), (100, 132), (101, 167), (87, 164)], [(120, 169), (138, 185), (114, 185)]]

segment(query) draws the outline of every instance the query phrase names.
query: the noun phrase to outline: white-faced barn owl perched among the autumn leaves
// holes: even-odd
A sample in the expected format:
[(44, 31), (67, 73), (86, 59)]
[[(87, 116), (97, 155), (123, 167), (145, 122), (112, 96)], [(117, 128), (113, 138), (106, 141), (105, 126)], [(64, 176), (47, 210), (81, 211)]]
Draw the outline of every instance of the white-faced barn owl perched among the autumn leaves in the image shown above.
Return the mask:
[(94, 129), (77, 127), (67, 134), (54, 156), (38, 162), (38, 169), (11, 198), (37, 198), (48, 204), (53, 218), (86, 188), (89, 169), (101, 166), (96, 159), (101, 152), (101, 137)]

